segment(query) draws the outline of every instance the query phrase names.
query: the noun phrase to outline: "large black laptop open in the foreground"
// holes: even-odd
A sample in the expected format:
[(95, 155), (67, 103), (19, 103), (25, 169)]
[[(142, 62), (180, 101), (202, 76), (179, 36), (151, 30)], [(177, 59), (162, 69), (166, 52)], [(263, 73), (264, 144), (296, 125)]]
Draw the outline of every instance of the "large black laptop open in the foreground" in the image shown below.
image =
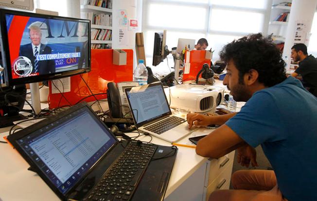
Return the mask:
[(175, 146), (120, 142), (86, 103), (7, 139), (65, 201), (162, 201), (177, 153)]

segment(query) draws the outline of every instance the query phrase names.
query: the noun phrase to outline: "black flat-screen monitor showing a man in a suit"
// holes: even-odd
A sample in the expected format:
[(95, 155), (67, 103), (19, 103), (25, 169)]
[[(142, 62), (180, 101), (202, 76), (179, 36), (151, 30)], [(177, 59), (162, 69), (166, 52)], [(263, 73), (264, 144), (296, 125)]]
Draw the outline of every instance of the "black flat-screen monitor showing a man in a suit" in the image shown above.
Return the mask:
[(90, 21), (0, 9), (7, 85), (90, 71)]

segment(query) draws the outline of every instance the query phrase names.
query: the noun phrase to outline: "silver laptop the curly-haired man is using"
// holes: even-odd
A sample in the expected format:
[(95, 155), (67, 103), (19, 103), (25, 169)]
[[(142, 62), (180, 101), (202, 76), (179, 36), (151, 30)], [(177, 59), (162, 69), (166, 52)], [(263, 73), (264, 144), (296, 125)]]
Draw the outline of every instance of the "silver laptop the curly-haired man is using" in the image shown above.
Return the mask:
[(125, 89), (136, 127), (168, 142), (192, 133), (186, 119), (172, 114), (161, 82)]

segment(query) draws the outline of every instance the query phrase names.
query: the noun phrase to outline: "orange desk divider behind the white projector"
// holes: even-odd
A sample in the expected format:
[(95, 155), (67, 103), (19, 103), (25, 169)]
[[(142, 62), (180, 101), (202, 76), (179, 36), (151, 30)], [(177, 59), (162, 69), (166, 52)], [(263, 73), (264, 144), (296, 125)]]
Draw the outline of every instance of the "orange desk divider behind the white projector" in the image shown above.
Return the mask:
[[(185, 52), (184, 61), (186, 61), (186, 55), (187, 55), (186, 52)], [(210, 59), (205, 58), (206, 50), (191, 50), (190, 52), (191, 54), (190, 54), (189, 62), (191, 63), (191, 67), (190, 67), (189, 74), (185, 74), (185, 69), (184, 69), (183, 81), (188, 81), (192, 79), (195, 80), (198, 72), (203, 68), (203, 64), (208, 63), (208, 65), (210, 66), (210, 63), (211, 63)], [(199, 77), (201, 77), (201, 75)]]

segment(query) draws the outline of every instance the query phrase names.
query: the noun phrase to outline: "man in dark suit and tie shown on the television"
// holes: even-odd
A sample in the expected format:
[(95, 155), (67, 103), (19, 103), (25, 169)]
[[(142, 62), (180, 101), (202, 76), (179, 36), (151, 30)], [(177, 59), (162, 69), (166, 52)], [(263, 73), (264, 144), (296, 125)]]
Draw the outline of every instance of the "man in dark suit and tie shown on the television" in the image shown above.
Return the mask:
[(52, 48), (42, 44), (42, 32), (37, 25), (30, 25), (29, 34), (31, 43), (20, 46), (19, 56), (27, 57), (32, 62), (32, 74), (51, 74), (55, 73), (55, 62), (54, 60), (36, 60), (36, 56), (39, 54), (52, 54)]

